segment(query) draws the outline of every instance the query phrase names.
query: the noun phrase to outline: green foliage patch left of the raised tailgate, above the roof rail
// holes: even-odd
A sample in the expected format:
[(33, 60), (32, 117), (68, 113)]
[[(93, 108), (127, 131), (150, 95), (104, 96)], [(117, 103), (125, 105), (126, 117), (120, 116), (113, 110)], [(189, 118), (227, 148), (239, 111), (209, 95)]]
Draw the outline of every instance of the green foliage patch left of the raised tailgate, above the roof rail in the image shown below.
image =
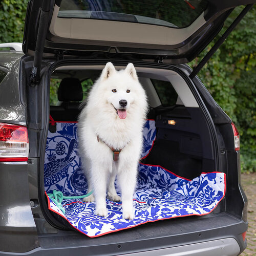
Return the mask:
[(28, 0), (0, 2), (0, 42), (22, 42)]

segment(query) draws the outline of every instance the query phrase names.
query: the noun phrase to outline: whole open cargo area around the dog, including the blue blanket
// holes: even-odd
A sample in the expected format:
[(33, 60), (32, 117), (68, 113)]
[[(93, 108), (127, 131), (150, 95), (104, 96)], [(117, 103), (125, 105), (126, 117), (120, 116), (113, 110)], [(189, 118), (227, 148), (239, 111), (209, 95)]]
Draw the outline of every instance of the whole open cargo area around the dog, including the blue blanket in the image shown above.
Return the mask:
[[(226, 177), (216, 170), (214, 144), (202, 110), (185, 80), (171, 70), (137, 69), (150, 105), (134, 194), (137, 218), (122, 220), (121, 202), (106, 199), (111, 220), (100, 219), (93, 214), (95, 203), (75, 198), (90, 192), (81, 167), (77, 117), (101, 70), (95, 66), (59, 67), (51, 75), (44, 167), (51, 214), (58, 221), (63, 218), (67, 228), (72, 225), (89, 237), (156, 220), (210, 214), (225, 196)], [(209, 189), (211, 196), (207, 197)], [(58, 206), (54, 190), (74, 198)]]

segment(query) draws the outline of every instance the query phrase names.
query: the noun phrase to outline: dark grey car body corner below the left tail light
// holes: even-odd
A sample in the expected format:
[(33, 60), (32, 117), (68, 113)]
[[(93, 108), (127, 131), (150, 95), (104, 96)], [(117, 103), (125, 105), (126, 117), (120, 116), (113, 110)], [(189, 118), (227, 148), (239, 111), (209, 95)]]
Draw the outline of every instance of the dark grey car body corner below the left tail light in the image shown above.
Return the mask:
[(29, 164), (0, 162), (1, 251), (26, 252), (39, 246), (28, 189)]

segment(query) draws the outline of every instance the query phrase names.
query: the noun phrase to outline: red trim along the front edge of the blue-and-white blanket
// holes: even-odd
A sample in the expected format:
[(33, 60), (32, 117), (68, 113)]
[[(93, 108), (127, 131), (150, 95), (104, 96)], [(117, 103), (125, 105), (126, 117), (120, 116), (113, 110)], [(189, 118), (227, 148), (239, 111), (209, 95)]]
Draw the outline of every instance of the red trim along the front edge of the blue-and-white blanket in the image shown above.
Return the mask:
[[(161, 167), (161, 166), (160, 166)], [(166, 170), (166, 169), (165, 169)], [(168, 170), (167, 170), (168, 171)], [(213, 173), (221, 173), (221, 172), (213, 172)], [(203, 173), (203, 174), (210, 174), (210, 173)], [(50, 200), (49, 200), (49, 197), (47, 196), (47, 193), (45, 192), (47, 198), (48, 198), (48, 208), (49, 210), (55, 212), (56, 214), (58, 214), (59, 216), (63, 217), (65, 220), (67, 220), (69, 222), (69, 224), (74, 227), (78, 232), (82, 233), (82, 234), (85, 234), (86, 236), (88, 236), (89, 238), (96, 238), (96, 237), (101, 237), (105, 234), (109, 234), (109, 233), (113, 233), (113, 232), (117, 232), (117, 231), (120, 231), (120, 230), (124, 230), (124, 229), (129, 229), (129, 228), (133, 228), (133, 227), (137, 227), (139, 225), (143, 225), (143, 224), (146, 224), (148, 222), (155, 222), (155, 221), (161, 221), (161, 220), (168, 220), (168, 219), (174, 219), (174, 218), (179, 218), (179, 217), (188, 217), (188, 216), (203, 216), (203, 215), (207, 215), (207, 214), (210, 214), (212, 211), (214, 211), (214, 209), (217, 207), (217, 205), (221, 202), (221, 200), (224, 198), (224, 196), (226, 195), (226, 174), (224, 173), (224, 184), (225, 184), (225, 188), (224, 188), (224, 193), (223, 193), (223, 197), (220, 199), (220, 201), (216, 204), (216, 206), (211, 209), (211, 211), (207, 212), (206, 214), (188, 214), (188, 215), (182, 215), (182, 216), (173, 216), (173, 217), (170, 217), (170, 218), (165, 218), (165, 219), (159, 219), (159, 220), (154, 220), (154, 221), (146, 221), (146, 222), (143, 222), (143, 223), (139, 223), (137, 225), (133, 225), (131, 227), (125, 227), (125, 228), (120, 228), (120, 229), (116, 229), (116, 230), (112, 230), (112, 231), (108, 231), (108, 232), (105, 232), (105, 233), (102, 233), (102, 234), (97, 234), (97, 236), (88, 236), (88, 234), (86, 233), (83, 233), (81, 230), (77, 229), (76, 227), (74, 227), (70, 222), (69, 220), (64, 217), (63, 215), (59, 214), (59, 212), (53, 210), (50, 208)]]

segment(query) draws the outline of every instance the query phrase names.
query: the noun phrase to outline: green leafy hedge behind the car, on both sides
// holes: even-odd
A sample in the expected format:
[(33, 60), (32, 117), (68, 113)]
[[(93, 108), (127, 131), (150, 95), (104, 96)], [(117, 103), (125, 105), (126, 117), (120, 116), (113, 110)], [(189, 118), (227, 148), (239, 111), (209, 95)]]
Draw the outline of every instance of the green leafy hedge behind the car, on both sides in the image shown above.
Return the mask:
[[(28, 0), (2, 0), (0, 3), (0, 42), (22, 42)], [(243, 7), (237, 7), (220, 33), (231, 24)], [(242, 172), (256, 172), (256, 6), (246, 14), (198, 76), (221, 108), (231, 117), (241, 134)], [(216, 40), (219, 37), (216, 38)], [(215, 41), (216, 41), (215, 40)], [(189, 63), (195, 67), (199, 57)], [(54, 81), (55, 87), (59, 83)], [(84, 87), (91, 82), (84, 82)], [(51, 94), (54, 98), (56, 88)]]

